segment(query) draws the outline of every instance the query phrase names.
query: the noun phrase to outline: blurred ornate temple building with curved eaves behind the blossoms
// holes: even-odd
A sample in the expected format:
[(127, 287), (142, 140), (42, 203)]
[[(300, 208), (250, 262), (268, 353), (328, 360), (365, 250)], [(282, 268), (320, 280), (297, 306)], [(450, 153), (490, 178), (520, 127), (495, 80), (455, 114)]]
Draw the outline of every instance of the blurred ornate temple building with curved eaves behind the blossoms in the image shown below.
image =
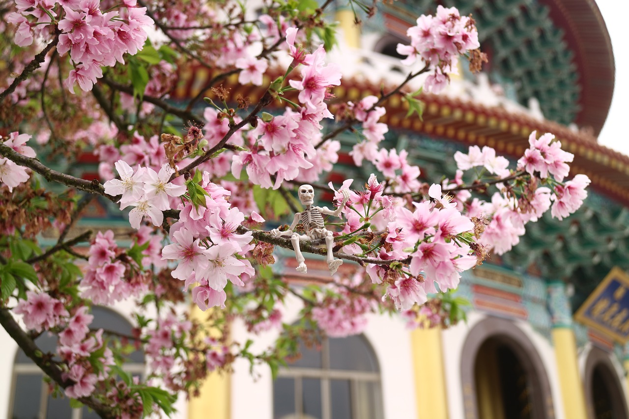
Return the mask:
[[(434, 176), (453, 177), (457, 150), (488, 145), (515, 161), (533, 130), (550, 132), (575, 156), (570, 176), (592, 180), (584, 206), (562, 221), (548, 214), (528, 223), (513, 250), (464, 272), (457, 295), (471, 303), (467, 322), (408, 330), (397, 316), (372, 315), (361, 335), (326, 338), (320, 350), (303, 347), (276, 380), (269, 369), (251, 374), (238, 360), (232, 374), (209, 377), (201, 397), (180, 399), (174, 417), (629, 419), (629, 157), (596, 140), (615, 79), (603, 17), (594, 0), (398, 0), (379, 3), (381, 13), (358, 28), (352, 11), (338, 6), (340, 45), (330, 59), (344, 74), (333, 94), (357, 101), (403, 81), (396, 45), (408, 42), (407, 28), (437, 4), (473, 15), (489, 64), (479, 75), (462, 65), (441, 94), (422, 94), (421, 120), (406, 118), (408, 104), (391, 98), (382, 147), (405, 148), (423, 180), (438, 181)], [(209, 77), (204, 67), (186, 67), (172, 99), (196, 96)], [(243, 93), (255, 100), (255, 89), (233, 89), (249, 89)], [(367, 179), (369, 167), (355, 167), (348, 155), (355, 137), (339, 139), (343, 173), (322, 181)], [(295, 272), (290, 252), (277, 259), (274, 271), (295, 286), (329, 278), (318, 259), (308, 261), (308, 275)], [(299, 320), (300, 304), (288, 300), (284, 322)], [(125, 313), (103, 316), (125, 328)], [(238, 341), (248, 337), (240, 323), (232, 333)], [(252, 350), (268, 347), (277, 333), (255, 337)], [(12, 378), (0, 381), (0, 419), (12, 417), (4, 402), (13, 411), (23, 403), (19, 394), (41, 382), (15, 356), (17, 347), (7, 347), (0, 372)], [(134, 362), (141, 371), (142, 355)], [(45, 411), (37, 409), (28, 417)], [(79, 413), (72, 417), (91, 417)]]

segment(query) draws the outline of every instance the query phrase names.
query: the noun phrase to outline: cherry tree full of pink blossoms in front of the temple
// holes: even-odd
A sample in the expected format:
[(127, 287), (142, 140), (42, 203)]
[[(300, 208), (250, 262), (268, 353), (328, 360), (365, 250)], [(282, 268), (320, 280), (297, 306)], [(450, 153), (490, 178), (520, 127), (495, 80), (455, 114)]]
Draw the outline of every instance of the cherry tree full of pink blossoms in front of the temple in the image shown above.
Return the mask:
[[(194, 395), (209, 372), (239, 357), (276, 371), (299, 340), (360, 333), (367, 313), (447, 327), (464, 316), (449, 292), (461, 272), (507, 252), (545, 211), (564, 218), (586, 197), (589, 179), (565, 181), (573, 156), (550, 133), (531, 133), (512, 165), (489, 147), (457, 152), (456, 176), (436, 184), (421, 180), (406, 150), (381, 147), (390, 98), (421, 117), (411, 80), (426, 74), (423, 89), (438, 93), (459, 57), (472, 70), (486, 61), (474, 20), (455, 8), (438, 6), (409, 28), (398, 45), (404, 82), (343, 103), (331, 94), (342, 69), (326, 60), (330, 0), (271, 1), (257, 18), (230, 0), (173, 4), (11, 0), (0, 20), (11, 57), (0, 69), (0, 324), (54, 386), (102, 417), (169, 414), (176, 394)], [(211, 77), (174, 103), (178, 71), (190, 65)], [(269, 80), (271, 70), (281, 75)], [(258, 86), (260, 99), (232, 94), (231, 75)], [(377, 172), (326, 185), (348, 130), (355, 165)], [(72, 174), (85, 153), (100, 179)], [(63, 162), (68, 170), (54, 169)], [(333, 256), (352, 267), (293, 287), (270, 268), (291, 237), (271, 234), (265, 219), (277, 226), (303, 211), (301, 184), (335, 196)], [(97, 196), (128, 219), (130, 245), (106, 229), (69, 238)], [(40, 245), (43, 232), (56, 243)], [(325, 253), (324, 243), (304, 240), (301, 252)], [(296, 325), (282, 322), (289, 295), (303, 302)], [(91, 328), (91, 306), (121, 301), (136, 306), (132, 335)], [(186, 301), (206, 319), (181, 310)], [(253, 353), (229, 338), (236, 319), (252, 333), (282, 333)], [(43, 354), (35, 340), (48, 332), (58, 345)], [(148, 357), (143, 381), (122, 368), (136, 349)]]

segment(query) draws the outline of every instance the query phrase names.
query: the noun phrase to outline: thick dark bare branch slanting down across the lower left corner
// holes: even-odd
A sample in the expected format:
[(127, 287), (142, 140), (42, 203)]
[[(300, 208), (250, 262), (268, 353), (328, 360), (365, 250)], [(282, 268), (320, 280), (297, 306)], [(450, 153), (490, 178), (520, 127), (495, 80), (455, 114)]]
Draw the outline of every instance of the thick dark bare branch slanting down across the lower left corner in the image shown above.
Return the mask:
[[(50, 362), (48, 357), (42, 353), (42, 350), (35, 345), (35, 342), (28, 336), (28, 334), (19, 327), (17, 321), (13, 318), (13, 315), (9, 313), (8, 308), (0, 308), (0, 324), (4, 327), (9, 336), (15, 340), (18, 346), (24, 351), (26, 356), (35, 362), (35, 364), (42, 369), (42, 371), (50, 377), (55, 383), (59, 384), (62, 388), (67, 388), (74, 384), (74, 381), (64, 379), (64, 371), (55, 363)], [(101, 418), (115, 418), (112, 408), (110, 406), (103, 405), (94, 396), (81, 397), (78, 399), (84, 405), (88, 406)]]

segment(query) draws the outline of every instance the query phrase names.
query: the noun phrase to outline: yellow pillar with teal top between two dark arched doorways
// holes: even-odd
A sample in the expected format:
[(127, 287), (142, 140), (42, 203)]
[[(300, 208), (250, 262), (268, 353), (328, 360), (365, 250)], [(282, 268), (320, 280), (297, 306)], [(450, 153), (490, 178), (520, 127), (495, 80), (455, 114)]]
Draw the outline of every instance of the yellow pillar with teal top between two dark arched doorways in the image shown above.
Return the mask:
[(564, 282), (548, 284), (548, 308), (553, 320), (552, 340), (564, 415), (567, 419), (587, 419), (585, 393), (577, 359), (577, 342), (572, 330), (572, 311)]

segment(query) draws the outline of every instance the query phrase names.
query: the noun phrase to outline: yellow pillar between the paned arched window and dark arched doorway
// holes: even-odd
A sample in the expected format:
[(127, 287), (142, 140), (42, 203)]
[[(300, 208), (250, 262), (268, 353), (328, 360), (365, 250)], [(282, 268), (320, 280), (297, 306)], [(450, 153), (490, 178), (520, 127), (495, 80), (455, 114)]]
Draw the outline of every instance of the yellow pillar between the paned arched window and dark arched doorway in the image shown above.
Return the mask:
[(415, 329), (411, 332), (415, 399), (418, 419), (447, 419), (441, 329)]

